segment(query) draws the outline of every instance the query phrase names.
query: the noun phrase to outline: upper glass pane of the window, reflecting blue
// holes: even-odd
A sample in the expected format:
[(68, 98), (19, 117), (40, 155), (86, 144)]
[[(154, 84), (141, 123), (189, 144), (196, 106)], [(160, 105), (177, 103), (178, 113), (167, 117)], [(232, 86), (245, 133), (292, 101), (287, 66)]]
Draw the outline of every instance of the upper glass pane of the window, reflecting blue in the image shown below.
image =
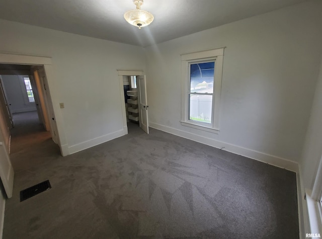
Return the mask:
[(190, 65), (190, 92), (213, 93), (215, 62)]

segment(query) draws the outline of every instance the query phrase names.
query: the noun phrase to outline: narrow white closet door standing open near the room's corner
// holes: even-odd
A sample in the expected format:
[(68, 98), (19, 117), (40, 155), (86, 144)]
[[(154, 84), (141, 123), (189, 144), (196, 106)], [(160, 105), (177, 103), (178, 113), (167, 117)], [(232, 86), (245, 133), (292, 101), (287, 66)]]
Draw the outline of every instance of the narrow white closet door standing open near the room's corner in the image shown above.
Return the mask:
[(140, 128), (143, 129), (147, 134), (149, 133), (149, 122), (148, 122), (148, 116), (147, 116), (147, 100), (146, 100), (146, 81), (145, 81), (145, 75), (138, 75), (136, 77), (137, 85), (139, 88), (139, 117), (140, 117)]

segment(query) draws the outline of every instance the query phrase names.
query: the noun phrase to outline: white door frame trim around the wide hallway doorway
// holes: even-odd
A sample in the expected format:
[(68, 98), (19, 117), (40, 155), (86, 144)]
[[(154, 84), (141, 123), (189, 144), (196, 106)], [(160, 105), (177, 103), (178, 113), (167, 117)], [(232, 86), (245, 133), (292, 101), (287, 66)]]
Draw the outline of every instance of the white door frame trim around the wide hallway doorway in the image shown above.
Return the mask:
[(47, 81), (49, 97), (51, 98), (53, 113), (55, 115), (55, 121), (57, 124), (58, 133), (58, 146), (62, 156), (68, 155), (68, 144), (66, 140), (64, 123), (62, 114), (59, 108), (59, 101), (57, 97), (57, 90), (55, 85), (55, 79), (53, 77), (53, 69), (51, 63), (51, 57), (48, 56), (35, 56), (35, 55), (23, 55), (14, 53), (1, 53), (0, 52), (0, 63), (4, 64), (25, 64), (25, 65), (43, 65)]

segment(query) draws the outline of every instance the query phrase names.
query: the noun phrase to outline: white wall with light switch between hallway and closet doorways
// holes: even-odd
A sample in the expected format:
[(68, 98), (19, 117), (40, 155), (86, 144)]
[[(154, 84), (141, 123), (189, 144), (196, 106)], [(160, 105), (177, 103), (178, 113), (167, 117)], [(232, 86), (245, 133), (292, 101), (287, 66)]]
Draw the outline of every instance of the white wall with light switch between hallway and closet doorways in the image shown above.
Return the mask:
[(65, 106), (61, 113), (70, 152), (120, 136), (117, 69), (144, 69), (141, 47), (4, 20), (0, 32), (0, 52), (52, 57), (51, 94)]

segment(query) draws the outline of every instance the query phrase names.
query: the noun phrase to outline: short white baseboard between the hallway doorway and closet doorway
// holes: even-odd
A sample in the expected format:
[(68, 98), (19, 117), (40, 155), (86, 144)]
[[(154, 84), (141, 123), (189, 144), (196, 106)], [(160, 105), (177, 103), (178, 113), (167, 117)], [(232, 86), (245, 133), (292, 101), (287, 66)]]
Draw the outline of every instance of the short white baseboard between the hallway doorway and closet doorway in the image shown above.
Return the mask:
[(121, 130), (118, 130), (118, 131), (115, 131), (115, 132), (112, 132), (109, 134), (105, 134), (105, 135), (97, 137), (97, 138), (93, 138), (93, 139), (84, 141), (82, 143), (77, 143), (75, 145), (71, 145), (68, 147), (68, 151), (69, 151), (69, 154), (72, 154), (72, 153), (82, 151), (84, 149), (96, 146), (98, 144), (105, 143), (107, 141), (121, 137), (123, 135), (124, 135), (124, 130), (121, 129)]

